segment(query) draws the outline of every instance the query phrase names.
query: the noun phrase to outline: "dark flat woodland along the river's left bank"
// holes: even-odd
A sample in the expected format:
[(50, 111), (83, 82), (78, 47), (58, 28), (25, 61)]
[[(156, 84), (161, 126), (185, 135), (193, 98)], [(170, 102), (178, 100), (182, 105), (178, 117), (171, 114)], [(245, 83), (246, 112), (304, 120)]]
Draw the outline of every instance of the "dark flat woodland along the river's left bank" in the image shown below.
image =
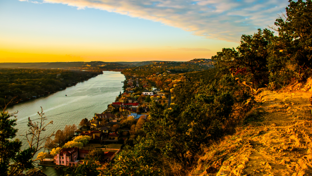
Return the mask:
[(0, 68), (0, 105), (15, 100), (44, 96), (77, 82), (102, 74), (101, 71), (70, 71), (61, 69)]

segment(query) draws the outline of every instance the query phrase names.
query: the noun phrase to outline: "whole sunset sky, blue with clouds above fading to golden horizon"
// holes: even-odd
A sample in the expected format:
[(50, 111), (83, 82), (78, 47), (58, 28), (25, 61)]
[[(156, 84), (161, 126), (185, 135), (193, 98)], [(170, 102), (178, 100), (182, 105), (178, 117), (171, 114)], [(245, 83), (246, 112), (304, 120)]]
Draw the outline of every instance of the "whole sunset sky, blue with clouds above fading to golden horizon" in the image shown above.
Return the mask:
[(0, 62), (189, 61), (274, 25), (287, 0), (0, 0)]

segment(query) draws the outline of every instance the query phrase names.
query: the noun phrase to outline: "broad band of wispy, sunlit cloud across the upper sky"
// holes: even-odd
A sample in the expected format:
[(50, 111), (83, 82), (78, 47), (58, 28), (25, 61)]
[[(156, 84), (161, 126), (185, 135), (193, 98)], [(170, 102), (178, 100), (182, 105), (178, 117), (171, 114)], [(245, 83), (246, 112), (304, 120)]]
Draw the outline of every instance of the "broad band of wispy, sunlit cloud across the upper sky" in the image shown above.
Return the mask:
[(273, 25), (285, 0), (44, 0), (78, 9), (96, 8), (178, 27), (194, 35), (237, 42), (241, 34)]

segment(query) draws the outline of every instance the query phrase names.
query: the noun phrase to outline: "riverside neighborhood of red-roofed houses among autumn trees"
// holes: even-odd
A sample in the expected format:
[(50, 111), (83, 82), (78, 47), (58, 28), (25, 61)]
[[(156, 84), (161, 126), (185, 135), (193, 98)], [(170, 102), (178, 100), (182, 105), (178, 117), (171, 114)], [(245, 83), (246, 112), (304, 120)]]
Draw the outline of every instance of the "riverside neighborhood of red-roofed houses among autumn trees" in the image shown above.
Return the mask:
[(149, 80), (135, 76), (125, 80), (124, 92), (120, 92), (107, 108), (82, 119), (69, 138), (51, 148), (53, 159), (44, 159), (40, 165), (76, 167), (95, 151), (104, 152), (101, 163), (112, 161), (123, 150), (122, 146), (133, 140), (134, 127), (142, 128), (148, 120), (152, 101), (168, 103), (168, 98), (165, 92), (152, 88)]

